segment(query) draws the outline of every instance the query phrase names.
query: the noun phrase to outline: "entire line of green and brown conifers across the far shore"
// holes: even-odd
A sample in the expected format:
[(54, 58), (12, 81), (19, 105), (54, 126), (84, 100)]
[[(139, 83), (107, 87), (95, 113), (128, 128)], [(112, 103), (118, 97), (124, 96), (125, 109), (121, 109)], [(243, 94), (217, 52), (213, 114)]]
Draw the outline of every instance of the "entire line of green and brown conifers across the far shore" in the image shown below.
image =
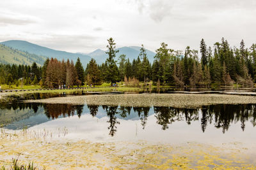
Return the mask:
[[(200, 42), (200, 52), (189, 46), (184, 52), (168, 48), (166, 43), (156, 50), (154, 62), (150, 63), (143, 45), (137, 59), (130, 61), (122, 54), (116, 59), (118, 50), (113, 38), (108, 39), (108, 58), (102, 64), (92, 59), (84, 69), (80, 59), (47, 59), (44, 66), (0, 64), (0, 83), (39, 83), (43, 87), (100, 85), (117, 81), (152, 81), (155, 85), (210, 86), (252, 85), (256, 81), (256, 44), (246, 48), (242, 40), (239, 48), (231, 47), (224, 38), (214, 46)], [(199, 56), (200, 55), (200, 56)]]

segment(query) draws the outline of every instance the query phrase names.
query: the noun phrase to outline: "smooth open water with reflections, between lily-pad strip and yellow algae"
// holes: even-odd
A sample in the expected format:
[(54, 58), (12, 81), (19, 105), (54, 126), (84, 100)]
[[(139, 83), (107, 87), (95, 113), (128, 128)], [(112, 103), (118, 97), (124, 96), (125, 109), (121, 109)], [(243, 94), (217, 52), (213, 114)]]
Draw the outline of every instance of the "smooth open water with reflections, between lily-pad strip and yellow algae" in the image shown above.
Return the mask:
[[(218, 104), (197, 109), (71, 104), (1, 103), (5, 129), (51, 131), (53, 138), (90, 141), (145, 140), (206, 143), (256, 140), (255, 104)], [(65, 129), (65, 135), (60, 134)]]

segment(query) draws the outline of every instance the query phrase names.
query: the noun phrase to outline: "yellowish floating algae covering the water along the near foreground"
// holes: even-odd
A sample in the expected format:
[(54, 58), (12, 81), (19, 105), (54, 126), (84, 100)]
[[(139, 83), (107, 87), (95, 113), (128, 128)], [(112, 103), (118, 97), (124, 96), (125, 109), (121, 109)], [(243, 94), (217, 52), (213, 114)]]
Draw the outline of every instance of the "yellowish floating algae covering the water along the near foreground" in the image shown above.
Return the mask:
[(39, 169), (256, 169), (248, 150), (235, 144), (93, 143), (0, 132), (0, 167), (7, 168), (19, 158), (19, 164), (34, 162)]

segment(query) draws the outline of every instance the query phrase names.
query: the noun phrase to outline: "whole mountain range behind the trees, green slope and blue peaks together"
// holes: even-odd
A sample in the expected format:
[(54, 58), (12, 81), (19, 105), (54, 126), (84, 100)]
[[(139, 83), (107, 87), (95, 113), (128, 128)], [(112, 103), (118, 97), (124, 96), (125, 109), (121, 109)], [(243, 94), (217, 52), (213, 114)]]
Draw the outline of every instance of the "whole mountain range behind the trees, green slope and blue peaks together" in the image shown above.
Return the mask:
[[(19, 53), (27, 53), (28, 55), (35, 55), (38, 60), (31, 60), (29, 62), (24, 62), (24, 59), (19, 59), (21, 56), (16, 56), (15, 59), (17, 60), (4, 60), (1, 59), (1, 55), (3, 55), (2, 51), (0, 50), (0, 63), (10, 63), (10, 64), (28, 64), (31, 65), (31, 62), (36, 62), (39, 65), (44, 63), (44, 60), (47, 57), (51, 58), (54, 57), (58, 60), (74, 60), (76, 62), (77, 58), (79, 57), (83, 66), (86, 66), (88, 62), (93, 58), (97, 61), (98, 64), (102, 64), (108, 58), (108, 54), (104, 50), (97, 49), (91, 53), (70, 53), (60, 50), (53, 50), (51, 48), (47, 48), (45, 46), (36, 45), (33, 43), (29, 43), (28, 41), (21, 41), (21, 40), (10, 40), (1, 42), (2, 46), (9, 48), (10, 50), (17, 51)], [(137, 59), (138, 55), (140, 54), (140, 46), (124, 46), (122, 48), (118, 48), (119, 52), (116, 54), (116, 60), (122, 54), (126, 55), (126, 58), (132, 62), (133, 59)], [(154, 56), (156, 53), (147, 50), (147, 57), (150, 62), (154, 61)], [(10, 53), (10, 57), (12, 58), (12, 53)], [(10, 58), (8, 57), (8, 58)], [(26, 57), (26, 56), (23, 56)], [(20, 62), (19, 62), (20, 60)]]

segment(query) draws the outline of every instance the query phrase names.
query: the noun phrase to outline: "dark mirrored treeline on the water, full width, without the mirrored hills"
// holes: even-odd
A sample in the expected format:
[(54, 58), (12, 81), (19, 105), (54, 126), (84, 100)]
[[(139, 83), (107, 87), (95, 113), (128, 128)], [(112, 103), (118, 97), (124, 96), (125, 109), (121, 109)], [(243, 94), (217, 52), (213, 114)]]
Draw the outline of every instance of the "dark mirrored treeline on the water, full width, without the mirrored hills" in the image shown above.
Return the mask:
[[(141, 126), (145, 129), (149, 115), (156, 117), (156, 123), (161, 125), (163, 130), (168, 129), (173, 122), (182, 121), (190, 125), (191, 122), (201, 123), (202, 131), (205, 132), (207, 125), (221, 129), (223, 133), (228, 131), (231, 124), (239, 122), (244, 131), (245, 123), (251, 122), (256, 125), (256, 105), (255, 104), (218, 104), (212, 106), (202, 106), (198, 109), (184, 109), (172, 107), (124, 107), (124, 106), (95, 106), (87, 105), (90, 115), (97, 117), (100, 110), (109, 118), (109, 135), (114, 136), (117, 131), (117, 124), (120, 119), (140, 119)], [(33, 110), (44, 108), (44, 113), (49, 119), (59, 117), (70, 117), (77, 115), (79, 118), (83, 113), (84, 105), (72, 104), (40, 104), (40, 103), (0, 103), (0, 117), (3, 110)], [(1, 111), (2, 110), (2, 111)], [(14, 113), (15, 114), (15, 113)], [(13, 115), (15, 117), (15, 115)]]

